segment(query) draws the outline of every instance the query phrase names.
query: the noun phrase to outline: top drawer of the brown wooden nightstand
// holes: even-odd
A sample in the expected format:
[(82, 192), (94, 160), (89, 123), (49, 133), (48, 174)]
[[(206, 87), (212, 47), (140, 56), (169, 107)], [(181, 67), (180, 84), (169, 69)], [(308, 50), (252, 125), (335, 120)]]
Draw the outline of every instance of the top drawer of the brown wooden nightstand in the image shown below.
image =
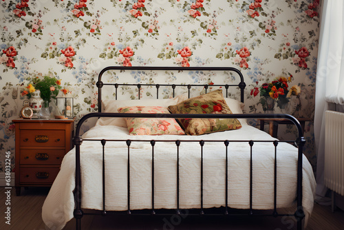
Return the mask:
[(21, 130), (21, 146), (65, 146), (65, 130)]

